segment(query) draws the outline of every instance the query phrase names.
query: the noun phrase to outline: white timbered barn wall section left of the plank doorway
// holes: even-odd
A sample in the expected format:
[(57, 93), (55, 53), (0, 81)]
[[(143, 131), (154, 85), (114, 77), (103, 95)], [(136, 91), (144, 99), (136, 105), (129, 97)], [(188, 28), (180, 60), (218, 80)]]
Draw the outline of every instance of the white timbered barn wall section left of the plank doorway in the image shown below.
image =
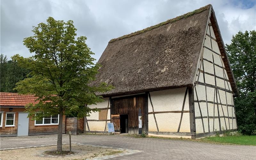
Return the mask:
[(103, 98), (103, 102), (97, 105), (90, 105), (89, 108), (98, 108), (102, 112), (92, 112), (90, 116), (85, 117), (85, 132), (105, 132), (106, 124), (110, 122), (110, 102), (109, 98)]

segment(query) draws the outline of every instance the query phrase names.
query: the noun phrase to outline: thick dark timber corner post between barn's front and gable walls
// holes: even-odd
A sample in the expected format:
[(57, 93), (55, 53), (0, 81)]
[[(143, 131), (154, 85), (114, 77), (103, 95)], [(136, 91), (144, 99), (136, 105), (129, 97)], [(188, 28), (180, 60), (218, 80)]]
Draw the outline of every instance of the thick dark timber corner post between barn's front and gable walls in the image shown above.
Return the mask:
[(195, 119), (195, 105), (194, 105), (194, 86), (188, 87), (188, 103), (189, 103), (189, 121), (191, 138), (196, 138), (196, 119)]

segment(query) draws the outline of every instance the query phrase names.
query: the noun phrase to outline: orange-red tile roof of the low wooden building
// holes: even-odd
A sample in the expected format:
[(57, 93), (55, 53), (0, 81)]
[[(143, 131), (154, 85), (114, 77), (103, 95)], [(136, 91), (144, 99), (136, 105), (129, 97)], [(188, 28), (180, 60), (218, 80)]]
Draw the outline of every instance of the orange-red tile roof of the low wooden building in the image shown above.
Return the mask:
[(0, 106), (25, 106), (28, 103), (36, 104), (35, 100), (33, 95), (0, 92)]

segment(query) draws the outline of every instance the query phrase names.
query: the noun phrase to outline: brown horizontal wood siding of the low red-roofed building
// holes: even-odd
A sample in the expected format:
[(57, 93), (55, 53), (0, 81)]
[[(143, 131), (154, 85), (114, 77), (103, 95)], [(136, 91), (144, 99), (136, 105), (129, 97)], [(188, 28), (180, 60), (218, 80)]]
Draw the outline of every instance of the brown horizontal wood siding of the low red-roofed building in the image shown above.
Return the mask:
[[(11, 107), (10, 107), (11, 108)], [(13, 108), (12, 111), (9, 111), (9, 108), (2, 108), (1, 112), (4, 112), (3, 116), (3, 127), (0, 129), (0, 136), (17, 136), (18, 131), (18, 112), (24, 112), (25, 108)], [(15, 126), (14, 127), (5, 127), (5, 113), (6, 112), (15, 112)], [(63, 116), (62, 121), (62, 133), (65, 133), (65, 117)], [(35, 121), (29, 118), (28, 125), (28, 135), (36, 135), (36, 134), (57, 134), (58, 133), (58, 125), (37, 125), (35, 126)]]

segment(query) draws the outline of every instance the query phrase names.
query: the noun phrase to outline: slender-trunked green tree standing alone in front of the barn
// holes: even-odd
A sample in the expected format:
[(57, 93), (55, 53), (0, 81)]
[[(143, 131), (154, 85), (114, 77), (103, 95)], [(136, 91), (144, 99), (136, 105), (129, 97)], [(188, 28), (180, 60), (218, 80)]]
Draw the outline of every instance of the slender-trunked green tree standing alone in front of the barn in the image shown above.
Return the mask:
[(62, 152), (62, 116), (71, 112), (78, 117), (89, 116), (98, 111), (87, 105), (102, 101), (95, 92), (110, 91), (106, 83), (92, 86), (99, 64), (94, 64), (94, 54), (85, 44), (86, 37), (76, 37), (73, 21), (47, 19), (47, 23), (34, 26), (34, 36), (24, 39), (24, 45), (32, 57), (12, 57), (19, 66), (29, 69), (28, 78), (17, 83), (15, 89), (22, 94), (34, 94), (39, 102), (28, 104), (28, 116), (42, 119), (44, 116), (59, 114), (57, 153)]

